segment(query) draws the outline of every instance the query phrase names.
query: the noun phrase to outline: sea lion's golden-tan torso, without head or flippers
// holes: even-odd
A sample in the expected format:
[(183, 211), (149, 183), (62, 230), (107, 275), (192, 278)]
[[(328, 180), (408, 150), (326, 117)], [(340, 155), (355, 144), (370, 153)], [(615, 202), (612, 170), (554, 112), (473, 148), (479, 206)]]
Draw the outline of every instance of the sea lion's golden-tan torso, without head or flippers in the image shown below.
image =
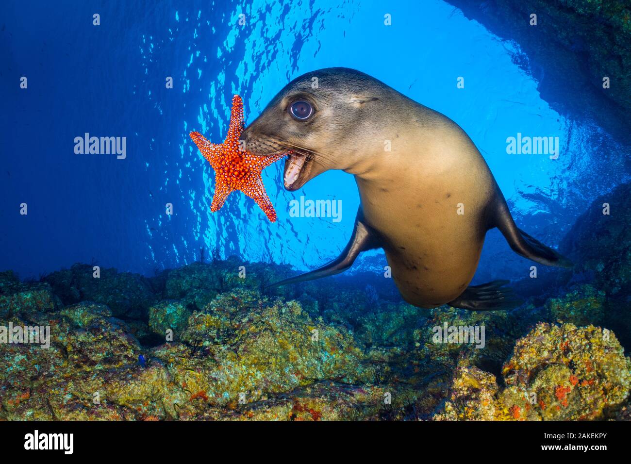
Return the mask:
[(401, 126), (379, 175), (356, 179), (365, 224), (381, 238), (399, 292), (434, 307), (456, 299), (473, 279), (496, 189), (454, 122), (421, 105), (415, 110), (426, 118)]

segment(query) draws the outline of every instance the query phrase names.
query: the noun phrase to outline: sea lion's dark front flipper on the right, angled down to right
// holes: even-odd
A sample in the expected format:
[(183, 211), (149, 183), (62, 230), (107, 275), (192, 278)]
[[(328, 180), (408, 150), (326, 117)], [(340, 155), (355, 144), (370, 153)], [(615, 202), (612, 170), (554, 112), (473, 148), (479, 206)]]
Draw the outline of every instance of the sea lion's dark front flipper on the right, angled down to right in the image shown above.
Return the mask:
[(510, 215), (504, 196), (501, 193), (499, 195), (500, 198), (495, 202), (495, 210), (492, 215), (493, 222), (490, 224), (490, 227), (497, 227), (502, 232), (515, 253), (546, 266), (560, 268), (571, 268), (573, 266), (572, 261), (565, 258), (565, 256), (519, 229)]

